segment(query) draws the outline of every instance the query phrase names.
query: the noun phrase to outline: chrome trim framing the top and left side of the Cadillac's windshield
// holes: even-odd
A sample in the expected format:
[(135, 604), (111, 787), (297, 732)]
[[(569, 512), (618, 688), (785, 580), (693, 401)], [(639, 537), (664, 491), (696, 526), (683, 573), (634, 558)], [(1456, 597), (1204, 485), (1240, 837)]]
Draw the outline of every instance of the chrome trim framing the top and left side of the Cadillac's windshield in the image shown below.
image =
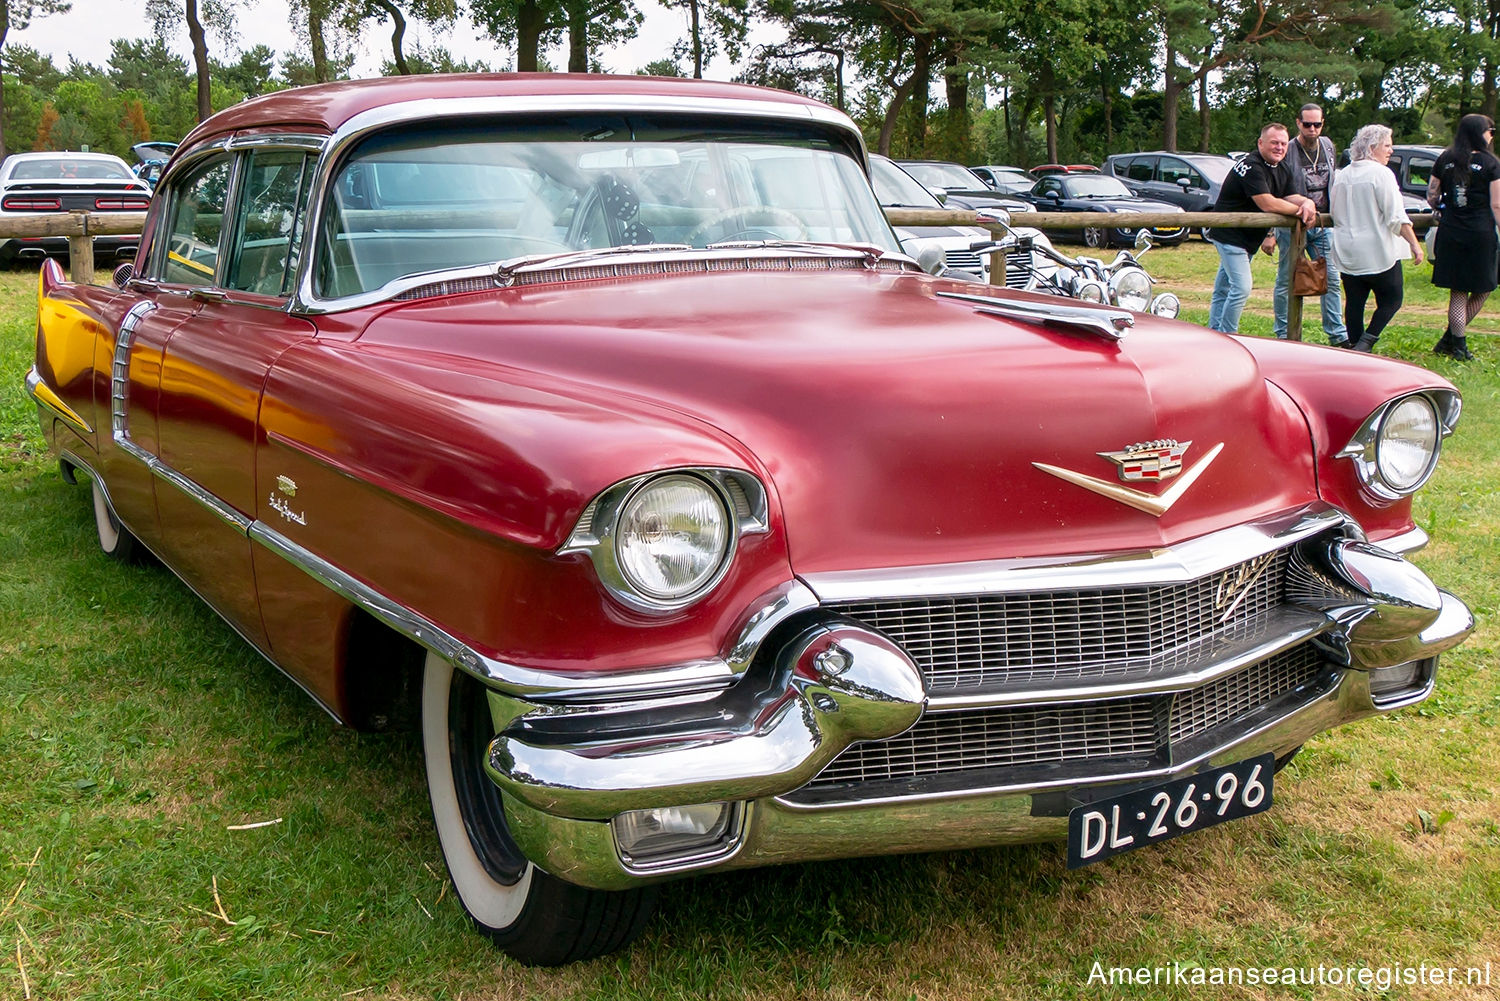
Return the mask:
[[(308, 197), (308, 228), (310, 239), (304, 240), (309, 252), (297, 263), (297, 281), (292, 285), (290, 302), (291, 312), (303, 315), (342, 312), (374, 303), (386, 302), (393, 294), (405, 288), (393, 290), (398, 282), (386, 287), (344, 296), (324, 299), (314, 293), (314, 261), (322, 254), (322, 216), (327, 195), (333, 185), (333, 168), (356, 143), (381, 129), (399, 125), (424, 122), (432, 119), (478, 119), (494, 116), (522, 114), (626, 114), (626, 113), (666, 113), (666, 114), (714, 114), (723, 117), (742, 117), (758, 120), (783, 120), (798, 125), (822, 125), (842, 134), (852, 149), (858, 150), (860, 168), (868, 174), (870, 155), (864, 144), (864, 135), (854, 125), (849, 116), (820, 105), (780, 104), (771, 101), (754, 101), (748, 98), (688, 98), (688, 96), (639, 96), (639, 95), (525, 95), (513, 98), (423, 98), (418, 101), (402, 101), (363, 111), (340, 125), (322, 144), (322, 156), (318, 164), (318, 174), (314, 179), (312, 191)], [(398, 279), (400, 281), (400, 279)], [(429, 279), (430, 281), (430, 279)], [(417, 285), (428, 282), (416, 282)], [(411, 285), (414, 287), (414, 285)], [(410, 288), (410, 287), (406, 287)]]

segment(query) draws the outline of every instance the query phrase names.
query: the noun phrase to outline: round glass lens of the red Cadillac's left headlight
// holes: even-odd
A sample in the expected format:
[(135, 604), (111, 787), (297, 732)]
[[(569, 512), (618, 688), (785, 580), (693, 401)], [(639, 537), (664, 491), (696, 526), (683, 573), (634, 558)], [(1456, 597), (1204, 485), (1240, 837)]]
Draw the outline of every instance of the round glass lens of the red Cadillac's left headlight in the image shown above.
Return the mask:
[(615, 558), (632, 588), (672, 603), (718, 576), (732, 542), (729, 512), (714, 488), (696, 476), (663, 476), (620, 510)]

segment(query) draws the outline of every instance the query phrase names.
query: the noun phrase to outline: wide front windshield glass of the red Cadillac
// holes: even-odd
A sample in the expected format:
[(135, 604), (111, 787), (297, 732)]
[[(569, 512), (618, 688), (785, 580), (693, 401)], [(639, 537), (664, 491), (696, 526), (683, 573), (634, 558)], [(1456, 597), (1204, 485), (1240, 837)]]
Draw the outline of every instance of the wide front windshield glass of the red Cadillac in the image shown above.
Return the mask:
[(660, 243), (898, 251), (850, 152), (816, 126), (573, 116), (378, 134), (339, 167), (316, 294), (518, 257)]

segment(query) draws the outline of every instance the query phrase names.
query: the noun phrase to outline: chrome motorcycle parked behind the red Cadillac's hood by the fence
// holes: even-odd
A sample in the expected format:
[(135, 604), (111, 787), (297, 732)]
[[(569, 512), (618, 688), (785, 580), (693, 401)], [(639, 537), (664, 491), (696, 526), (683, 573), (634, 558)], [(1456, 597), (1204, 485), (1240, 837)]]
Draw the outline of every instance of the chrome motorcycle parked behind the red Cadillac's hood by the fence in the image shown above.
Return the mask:
[[(1068, 257), (1054, 249), (1052, 242), (1035, 230), (1017, 233), (999, 219), (987, 219), (987, 222), (998, 224), (1005, 230), (1005, 236), (999, 240), (975, 243), (970, 249), (980, 254), (999, 249), (1006, 252), (1006, 288), (1107, 303), (1134, 312), (1150, 312), (1168, 320), (1182, 309), (1182, 303), (1174, 294), (1154, 294), (1156, 279), (1140, 263), (1140, 258), (1155, 246), (1146, 230), (1136, 234), (1134, 251), (1120, 251), (1113, 261), (1106, 264), (1096, 257)], [(954, 278), (975, 278), (954, 269), (946, 269), (942, 273)]]

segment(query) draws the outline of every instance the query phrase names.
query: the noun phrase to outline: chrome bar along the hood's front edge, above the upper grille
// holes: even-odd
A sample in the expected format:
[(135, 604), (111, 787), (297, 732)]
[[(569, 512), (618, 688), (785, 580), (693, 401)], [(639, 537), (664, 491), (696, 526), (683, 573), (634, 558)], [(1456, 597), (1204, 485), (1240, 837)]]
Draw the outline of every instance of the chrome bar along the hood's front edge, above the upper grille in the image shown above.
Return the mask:
[[(834, 570), (802, 581), (820, 602), (936, 597), (944, 594), (1005, 594), (1060, 588), (1182, 584), (1226, 570), (1336, 525), (1358, 528), (1328, 504), (1154, 551), (1126, 551), (966, 564)], [(1359, 533), (1362, 537), (1362, 533)]]

